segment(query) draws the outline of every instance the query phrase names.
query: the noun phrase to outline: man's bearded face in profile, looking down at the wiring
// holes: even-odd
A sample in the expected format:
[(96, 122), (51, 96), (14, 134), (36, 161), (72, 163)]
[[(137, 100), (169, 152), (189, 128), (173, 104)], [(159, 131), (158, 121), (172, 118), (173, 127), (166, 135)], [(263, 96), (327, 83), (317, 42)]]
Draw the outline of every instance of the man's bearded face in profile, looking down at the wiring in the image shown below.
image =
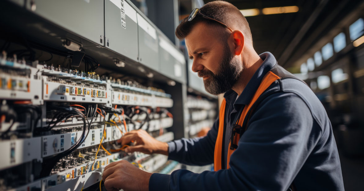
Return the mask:
[[(193, 59), (192, 71), (203, 78), (207, 92), (218, 95), (231, 89), (238, 80), (243, 65), (230, 47), (219, 39), (220, 28), (208, 30), (206, 24), (198, 23), (186, 37), (186, 47)], [(221, 37), (220, 37), (221, 38)]]

